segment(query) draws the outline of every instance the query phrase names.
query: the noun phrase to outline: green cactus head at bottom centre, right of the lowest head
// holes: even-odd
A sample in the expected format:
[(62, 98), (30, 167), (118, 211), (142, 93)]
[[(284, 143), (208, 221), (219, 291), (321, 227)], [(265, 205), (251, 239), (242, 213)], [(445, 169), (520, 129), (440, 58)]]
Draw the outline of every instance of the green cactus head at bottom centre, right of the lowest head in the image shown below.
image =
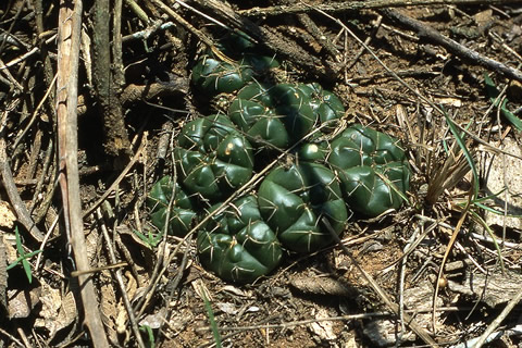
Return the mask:
[(275, 167), (261, 183), (258, 201), (281, 243), (298, 252), (312, 252), (332, 243), (323, 217), (337, 234), (348, 219), (337, 177), (318, 163)]

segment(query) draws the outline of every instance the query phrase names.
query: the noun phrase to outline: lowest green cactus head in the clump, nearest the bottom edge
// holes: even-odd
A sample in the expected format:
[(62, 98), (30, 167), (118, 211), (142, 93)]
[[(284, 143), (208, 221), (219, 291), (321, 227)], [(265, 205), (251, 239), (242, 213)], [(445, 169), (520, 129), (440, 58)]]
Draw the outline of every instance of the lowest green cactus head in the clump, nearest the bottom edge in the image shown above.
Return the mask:
[[(213, 206), (209, 212), (221, 204)], [(243, 197), (212, 220), (198, 235), (201, 264), (220, 277), (251, 283), (275, 269), (279, 241), (261, 220), (257, 198)]]

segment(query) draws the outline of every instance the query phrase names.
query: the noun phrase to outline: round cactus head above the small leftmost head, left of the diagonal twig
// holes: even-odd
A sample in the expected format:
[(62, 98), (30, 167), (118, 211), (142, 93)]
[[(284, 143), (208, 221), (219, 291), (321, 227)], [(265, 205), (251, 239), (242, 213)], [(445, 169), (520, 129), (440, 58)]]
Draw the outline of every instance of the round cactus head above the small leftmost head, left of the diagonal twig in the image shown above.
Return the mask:
[(250, 142), (225, 115), (210, 115), (187, 123), (175, 150), (184, 188), (219, 201), (252, 175)]

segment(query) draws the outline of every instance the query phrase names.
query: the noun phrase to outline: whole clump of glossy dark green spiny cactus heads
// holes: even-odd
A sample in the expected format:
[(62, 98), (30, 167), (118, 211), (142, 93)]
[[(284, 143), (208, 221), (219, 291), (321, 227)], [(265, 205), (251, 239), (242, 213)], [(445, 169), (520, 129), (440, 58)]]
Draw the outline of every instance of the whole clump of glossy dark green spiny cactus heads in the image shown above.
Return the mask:
[[(226, 281), (251, 283), (278, 265), (283, 249), (312, 252), (330, 245), (330, 227), (340, 234), (351, 211), (376, 216), (400, 207), (410, 169), (397, 139), (357, 124), (325, 136), (345, 112), (334, 94), (316, 83), (260, 82), (277, 63), (256, 55), (244, 37), (221, 48), (236, 63), (209, 52), (197, 62), (192, 84), (209, 98), (233, 98), (226, 114), (182, 128), (177, 182), (163, 177), (147, 200), (158, 229), (167, 215), (167, 232), (177, 236), (204, 221), (197, 238), (201, 264)], [(287, 160), (253, 194), (223, 207), (268, 159), (284, 152)]]

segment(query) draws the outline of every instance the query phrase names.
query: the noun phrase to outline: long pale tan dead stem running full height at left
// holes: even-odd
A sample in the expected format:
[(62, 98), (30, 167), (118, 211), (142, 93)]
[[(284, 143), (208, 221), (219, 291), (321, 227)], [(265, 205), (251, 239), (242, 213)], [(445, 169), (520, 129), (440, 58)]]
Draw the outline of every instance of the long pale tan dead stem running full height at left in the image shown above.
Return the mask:
[[(90, 269), (85, 248), (84, 221), (79, 195), (78, 175), (78, 61), (79, 38), (82, 29), (82, 0), (72, 3), (60, 1), (59, 41), (58, 41), (58, 79), (57, 115), (60, 158), (60, 186), (64, 208), (67, 238), (73, 247), (78, 271)], [(85, 323), (89, 330), (95, 347), (109, 347), (91, 276), (78, 276)]]

